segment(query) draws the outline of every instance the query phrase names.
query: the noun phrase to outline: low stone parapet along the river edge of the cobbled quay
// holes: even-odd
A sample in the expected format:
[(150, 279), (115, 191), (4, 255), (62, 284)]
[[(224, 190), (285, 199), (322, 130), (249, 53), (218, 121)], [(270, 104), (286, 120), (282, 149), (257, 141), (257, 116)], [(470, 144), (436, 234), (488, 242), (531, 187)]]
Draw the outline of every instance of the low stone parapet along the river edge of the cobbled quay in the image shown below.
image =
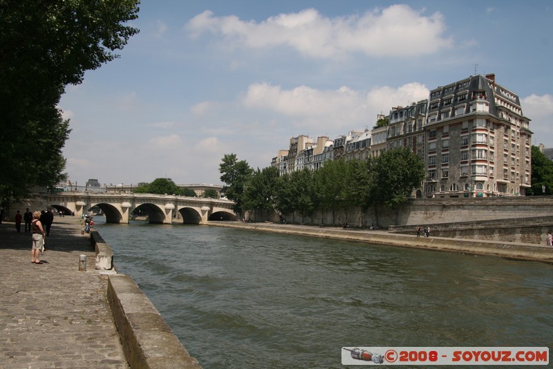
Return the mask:
[[(114, 269), (111, 247), (95, 230), (91, 240), (97, 269)], [(131, 368), (201, 369), (131, 277), (113, 270), (108, 278), (107, 300)]]

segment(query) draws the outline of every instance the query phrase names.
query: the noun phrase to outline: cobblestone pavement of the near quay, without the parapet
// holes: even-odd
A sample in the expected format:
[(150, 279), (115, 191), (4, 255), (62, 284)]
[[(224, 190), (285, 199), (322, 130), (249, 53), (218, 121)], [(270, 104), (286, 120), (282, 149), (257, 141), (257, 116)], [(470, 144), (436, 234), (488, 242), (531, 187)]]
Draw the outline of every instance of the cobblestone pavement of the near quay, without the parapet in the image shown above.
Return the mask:
[[(0, 224), (0, 368), (129, 368), (78, 218), (56, 217), (42, 265), (31, 236)], [(79, 272), (79, 255), (86, 272)]]

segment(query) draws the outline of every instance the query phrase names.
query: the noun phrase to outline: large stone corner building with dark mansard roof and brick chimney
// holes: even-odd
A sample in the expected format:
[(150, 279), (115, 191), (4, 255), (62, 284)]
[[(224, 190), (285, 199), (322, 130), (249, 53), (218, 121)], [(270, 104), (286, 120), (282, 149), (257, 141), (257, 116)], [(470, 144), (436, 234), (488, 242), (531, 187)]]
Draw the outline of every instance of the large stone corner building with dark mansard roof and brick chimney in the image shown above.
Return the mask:
[(428, 104), (425, 197), (525, 196), (532, 132), (516, 93), (476, 75), (435, 88)]

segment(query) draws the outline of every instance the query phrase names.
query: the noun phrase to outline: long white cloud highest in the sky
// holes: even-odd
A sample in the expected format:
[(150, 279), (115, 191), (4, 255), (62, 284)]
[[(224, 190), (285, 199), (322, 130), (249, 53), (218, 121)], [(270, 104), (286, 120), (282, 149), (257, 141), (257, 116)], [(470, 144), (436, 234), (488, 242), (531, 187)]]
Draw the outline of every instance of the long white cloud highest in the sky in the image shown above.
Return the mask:
[(406, 5), (393, 5), (364, 15), (328, 18), (315, 9), (280, 14), (265, 21), (241, 21), (236, 16), (214, 17), (206, 10), (187, 30), (223, 36), (225, 46), (268, 48), (289, 46), (309, 57), (344, 57), (351, 53), (408, 56), (436, 53), (452, 45), (439, 12), (425, 17)]

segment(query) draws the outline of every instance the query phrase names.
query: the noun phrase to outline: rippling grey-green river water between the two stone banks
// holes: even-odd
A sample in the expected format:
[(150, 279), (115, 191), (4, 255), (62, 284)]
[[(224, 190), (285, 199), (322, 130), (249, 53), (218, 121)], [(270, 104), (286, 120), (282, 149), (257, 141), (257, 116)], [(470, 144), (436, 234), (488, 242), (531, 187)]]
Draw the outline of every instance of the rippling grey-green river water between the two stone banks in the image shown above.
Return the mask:
[(552, 265), (223, 227), (96, 227), (205, 369), (341, 368), (352, 346), (551, 350)]

